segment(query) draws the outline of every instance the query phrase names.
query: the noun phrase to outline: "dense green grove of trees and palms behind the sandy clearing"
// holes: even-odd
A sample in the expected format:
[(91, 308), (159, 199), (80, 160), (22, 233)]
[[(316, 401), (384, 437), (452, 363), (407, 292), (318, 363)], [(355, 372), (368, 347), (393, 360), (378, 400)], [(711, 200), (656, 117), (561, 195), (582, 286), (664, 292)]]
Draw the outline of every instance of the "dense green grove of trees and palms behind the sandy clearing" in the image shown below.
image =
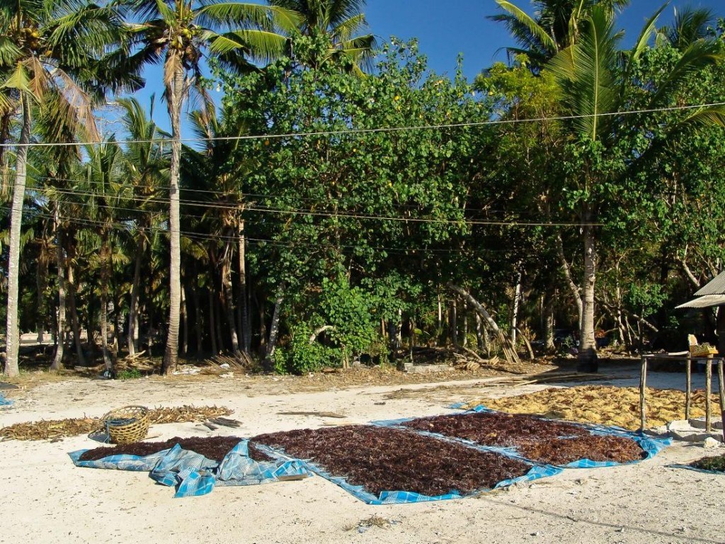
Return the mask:
[[(339, 12), (271, 4), (278, 11), (259, 17), (240, 8), (205, 44), (183, 13), (146, 13), (143, 32), (117, 36), (109, 66), (141, 65), (157, 54), (159, 20), (183, 20), (171, 25), (180, 43), (218, 53), (212, 78), (199, 78), (199, 58), (173, 39), (164, 46), (181, 64), (169, 73), (202, 96), (219, 85), (223, 99), (219, 110), (202, 101), (191, 112), (201, 141), (174, 168), (170, 135), (133, 99), (119, 99), (123, 129), (103, 144), (31, 149), (22, 330), (54, 331), (68, 364), (94, 358), (96, 342), (107, 366), (127, 351), (161, 353), (174, 308), (178, 167), (185, 356), (228, 352), (301, 374), (421, 346), (502, 350), (451, 284), (539, 353), (555, 350), (555, 329), (581, 331), (592, 349), (595, 332), (630, 352), (682, 348), (697, 330), (714, 343), (713, 312), (673, 310), (725, 259), (725, 107), (699, 106), (725, 102), (723, 28), (712, 14), (685, 12), (670, 28), (654, 14), (623, 50), (624, 1), (587, 2), (575, 18), (571, 2), (540, 2), (540, 20), (500, 1), (498, 19), (521, 47), (468, 82), (460, 70), (428, 70), (415, 41), (392, 39), (373, 54), (361, 1), (336, 2)], [(252, 36), (273, 31), (257, 56), (266, 64), (243, 62), (255, 58)], [(128, 64), (123, 48), (138, 54)], [(0, 136), (17, 141), (20, 120), (32, 118), (37, 141), (87, 137), (57, 122), (51, 100), (30, 116), (7, 102)], [(5, 267), (16, 156), (2, 160)], [(96, 339), (83, 345), (82, 329)], [(106, 329), (115, 333), (107, 345), (97, 334)]]

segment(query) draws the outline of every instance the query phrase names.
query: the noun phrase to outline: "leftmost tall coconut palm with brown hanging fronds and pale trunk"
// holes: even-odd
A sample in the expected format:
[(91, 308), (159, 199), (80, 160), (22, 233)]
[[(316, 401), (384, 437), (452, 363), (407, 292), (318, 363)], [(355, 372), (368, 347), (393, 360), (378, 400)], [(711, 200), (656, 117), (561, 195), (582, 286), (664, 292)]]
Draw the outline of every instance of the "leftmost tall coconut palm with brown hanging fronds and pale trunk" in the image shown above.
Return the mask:
[[(59, 125), (84, 126), (88, 136), (95, 136), (94, 103), (102, 97), (114, 66), (103, 60), (109, 46), (120, 44), (123, 34), (121, 14), (111, 5), (86, 0), (3, 0), (0, 5), (1, 86), (17, 96), (22, 118), (11, 212), (5, 361), (6, 374), (14, 375), (18, 372), (20, 224), (33, 105), (42, 108), (49, 96), (57, 96), (54, 114)], [(5, 107), (7, 95), (0, 94), (0, 110)]]

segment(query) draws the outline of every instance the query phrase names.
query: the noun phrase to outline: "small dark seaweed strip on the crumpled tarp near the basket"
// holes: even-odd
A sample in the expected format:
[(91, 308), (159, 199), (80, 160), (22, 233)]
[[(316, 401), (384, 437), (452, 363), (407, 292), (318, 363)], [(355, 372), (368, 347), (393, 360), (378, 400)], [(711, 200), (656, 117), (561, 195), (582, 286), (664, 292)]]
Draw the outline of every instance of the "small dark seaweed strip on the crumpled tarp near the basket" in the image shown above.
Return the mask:
[[(138, 457), (151, 456), (159, 451), (168, 450), (175, 445), (180, 445), (181, 449), (193, 451), (200, 455), (217, 461), (218, 463), (226, 456), (230, 450), (241, 442), (239, 437), (191, 437), (179, 438), (175, 437), (165, 442), (135, 442), (133, 444), (117, 445), (112, 447), (94, 448), (88, 450), (80, 456), (80, 461), (97, 461), (108, 456), (130, 455)], [(249, 445), (249, 456), (254, 461), (273, 461), (267, 454)]]

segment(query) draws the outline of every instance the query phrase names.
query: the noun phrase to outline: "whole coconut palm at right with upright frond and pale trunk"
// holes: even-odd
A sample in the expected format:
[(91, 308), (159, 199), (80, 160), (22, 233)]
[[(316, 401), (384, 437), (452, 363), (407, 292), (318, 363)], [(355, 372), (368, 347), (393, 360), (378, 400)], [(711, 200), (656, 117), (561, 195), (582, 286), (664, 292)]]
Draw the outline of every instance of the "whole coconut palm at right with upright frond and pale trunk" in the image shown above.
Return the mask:
[[(624, 116), (616, 115), (626, 110), (629, 100), (627, 86), (631, 85), (631, 73), (640, 57), (649, 48), (650, 38), (655, 33), (655, 23), (662, 8), (645, 24), (634, 47), (622, 54), (619, 44), (623, 33), (614, 28), (610, 12), (603, 7), (592, 8), (587, 15), (586, 25), (579, 39), (568, 49), (553, 57), (544, 70), (550, 70), (558, 81), (560, 104), (564, 115), (575, 117), (568, 122), (573, 141), (581, 152), (598, 150), (594, 154), (607, 154), (616, 147), (627, 130)], [(703, 39), (693, 41), (682, 52), (666, 78), (651, 89), (647, 110), (671, 104), (671, 99), (687, 83), (687, 78), (697, 70), (723, 58), (721, 45), (716, 41)], [(637, 118), (632, 130), (639, 130), (646, 123), (647, 116)], [(684, 120), (667, 130), (683, 130), (695, 123), (716, 123), (725, 125), (725, 109), (709, 107), (692, 112)], [(600, 156), (601, 158), (601, 156)], [(637, 154), (627, 159), (626, 171), (610, 173), (587, 163), (576, 179), (577, 189), (584, 195), (596, 193), (596, 187), (616, 183), (614, 176), (626, 176), (637, 170), (646, 154)], [(598, 205), (595, 197), (582, 197), (580, 218), (583, 223), (584, 279), (582, 282), (582, 318), (580, 336), (580, 368), (595, 370), (595, 280), (597, 263), (597, 231), (592, 222), (597, 220)]]

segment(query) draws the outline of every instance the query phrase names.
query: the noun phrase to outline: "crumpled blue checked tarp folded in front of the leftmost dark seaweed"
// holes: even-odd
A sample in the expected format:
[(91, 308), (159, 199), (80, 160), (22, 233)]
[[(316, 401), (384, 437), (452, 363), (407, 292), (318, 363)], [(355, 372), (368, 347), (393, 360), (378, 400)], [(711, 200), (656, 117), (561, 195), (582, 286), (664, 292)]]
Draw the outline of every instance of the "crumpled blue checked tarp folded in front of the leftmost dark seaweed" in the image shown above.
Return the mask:
[(291, 477), (310, 475), (305, 463), (297, 460), (258, 462), (249, 457), (249, 440), (231, 449), (221, 463), (175, 445), (146, 457), (117, 455), (98, 461), (80, 461), (88, 450), (70, 453), (75, 466), (94, 469), (148, 471), (156, 482), (175, 487), (175, 497), (198, 497), (211, 493), (217, 485), (257, 485)]

